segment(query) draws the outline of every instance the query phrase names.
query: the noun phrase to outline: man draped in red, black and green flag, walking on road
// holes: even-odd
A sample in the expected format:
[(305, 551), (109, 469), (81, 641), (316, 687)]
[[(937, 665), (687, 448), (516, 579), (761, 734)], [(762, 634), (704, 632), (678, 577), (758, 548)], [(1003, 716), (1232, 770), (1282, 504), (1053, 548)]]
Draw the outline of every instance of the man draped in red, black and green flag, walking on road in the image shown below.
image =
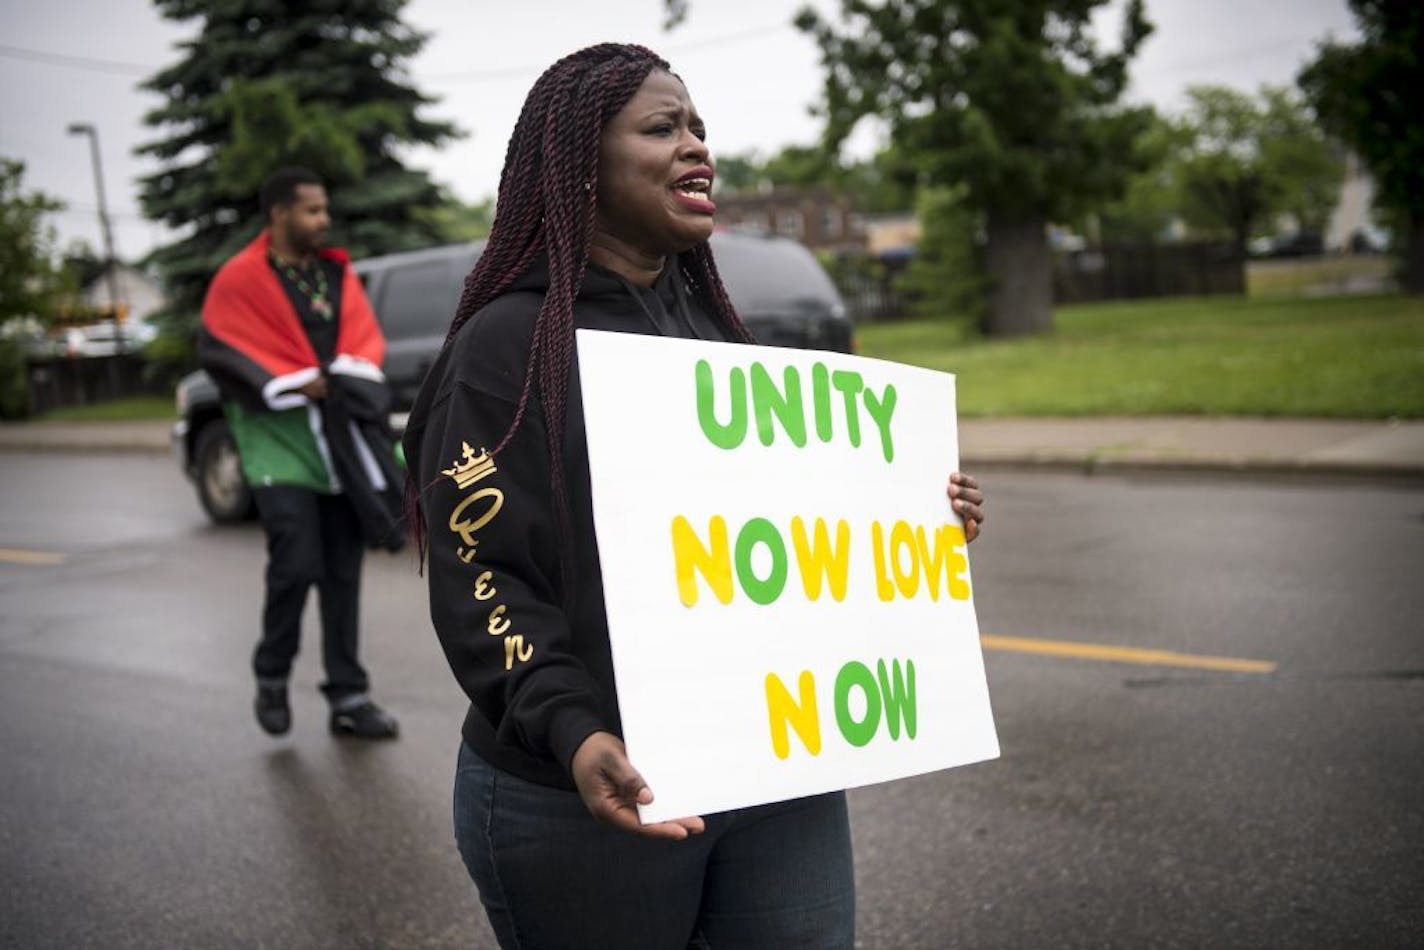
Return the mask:
[(325, 248), (326, 189), (303, 168), (262, 187), (266, 228), (214, 278), (198, 356), (222, 390), (266, 533), (266, 600), (253, 654), (256, 718), (292, 726), (288, 678), (312, 585), (322, 618), (330, 731), (397, 735), (357, 659), (365, 547), (397, 550), (402, 473), (389, 430), (386, 340), (350, 258)]

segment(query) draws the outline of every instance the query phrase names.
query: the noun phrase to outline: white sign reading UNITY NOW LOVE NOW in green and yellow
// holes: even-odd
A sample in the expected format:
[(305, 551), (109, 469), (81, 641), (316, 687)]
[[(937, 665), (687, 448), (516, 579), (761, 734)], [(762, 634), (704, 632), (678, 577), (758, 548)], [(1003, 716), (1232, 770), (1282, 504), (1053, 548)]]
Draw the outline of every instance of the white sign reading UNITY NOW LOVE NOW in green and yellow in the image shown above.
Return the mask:
[(595, 330), (578, 372), (644, 822), (998, 756), (953, 376)]

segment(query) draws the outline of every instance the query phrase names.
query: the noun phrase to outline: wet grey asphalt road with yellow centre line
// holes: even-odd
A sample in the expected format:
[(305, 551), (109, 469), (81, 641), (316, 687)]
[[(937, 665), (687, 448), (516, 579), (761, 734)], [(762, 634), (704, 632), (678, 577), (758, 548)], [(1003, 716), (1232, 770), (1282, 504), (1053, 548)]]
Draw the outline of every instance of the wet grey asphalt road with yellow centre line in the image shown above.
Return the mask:
[[(0, 453), (0, 946), (493, 946), (449, 842), (463, 702), (404, 555), (367, 561), (363, 604), (403, 738), (329, 739), (309, 649), (271, 741), (255, 528), (208, 527), (161, 457)], [(862, 946), (1417, 944), (1424, 490), (990, 493), (1004, 758), (852, 795)]]

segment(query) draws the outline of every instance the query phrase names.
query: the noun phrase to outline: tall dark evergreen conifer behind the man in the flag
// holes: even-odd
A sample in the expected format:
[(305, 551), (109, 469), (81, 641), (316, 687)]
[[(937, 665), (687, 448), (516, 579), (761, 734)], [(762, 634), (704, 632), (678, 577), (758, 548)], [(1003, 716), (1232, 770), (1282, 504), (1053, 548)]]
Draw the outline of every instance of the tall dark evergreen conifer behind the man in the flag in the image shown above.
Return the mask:
[(281, 165), (326, 179), (333, 241), (356, 256), (444, 239), (444, 192), (399, 157), (457, 134), (420, 115), (433, 100), (406, 81), (426, 37), (402, 23), (404, 3), (155, 0), (197, 24), (182, 58), (144, 83), (167, 103), (145, 118), (162, 138), (138, 150), (162, 164), (141, 182), (144, 212), (184, 235), (152, 252), (179, 339), (214, 272), (262, 226), (258, 188)]

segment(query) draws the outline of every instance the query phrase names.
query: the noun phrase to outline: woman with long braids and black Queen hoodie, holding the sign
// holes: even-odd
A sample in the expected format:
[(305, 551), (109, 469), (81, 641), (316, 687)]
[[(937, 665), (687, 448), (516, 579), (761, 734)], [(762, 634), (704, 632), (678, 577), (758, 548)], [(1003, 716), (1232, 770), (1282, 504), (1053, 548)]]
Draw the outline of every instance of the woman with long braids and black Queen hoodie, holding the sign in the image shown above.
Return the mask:
[[(654, 790), (619, 738), (574, 329), (752, 342), (708, 249), (703, 140), (642, 47), (551, 66), (406, 430), (430, 614), (470, 696), (456, 840), (504, 947), (853, 946), (844, 793), (642, 825)], [(973, 540), (978, 486), (956, 473), (948, 496)]]

